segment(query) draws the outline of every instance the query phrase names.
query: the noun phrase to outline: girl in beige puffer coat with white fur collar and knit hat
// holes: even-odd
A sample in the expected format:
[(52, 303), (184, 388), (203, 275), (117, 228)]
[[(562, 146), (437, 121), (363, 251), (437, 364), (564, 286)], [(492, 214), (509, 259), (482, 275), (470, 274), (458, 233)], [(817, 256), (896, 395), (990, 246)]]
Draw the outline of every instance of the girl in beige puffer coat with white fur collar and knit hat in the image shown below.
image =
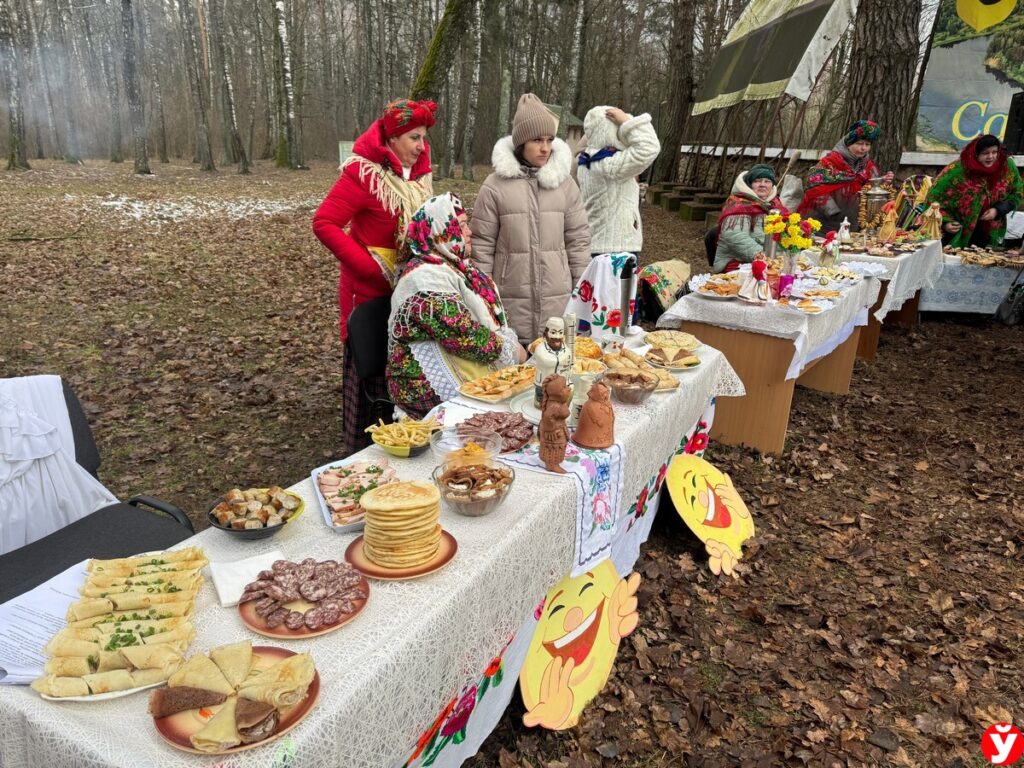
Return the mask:
[(540, 99), (523, 94), (512, 135), (495, 144), (495, 171), (473, 206), (473, 258), (498, 285), (508, 324), (524, 343), (541, 335), (548, 317), (564, 313), (590, 263), (587, 211), (569, 175), (572, 153), (554, 137), (557, 129)]

